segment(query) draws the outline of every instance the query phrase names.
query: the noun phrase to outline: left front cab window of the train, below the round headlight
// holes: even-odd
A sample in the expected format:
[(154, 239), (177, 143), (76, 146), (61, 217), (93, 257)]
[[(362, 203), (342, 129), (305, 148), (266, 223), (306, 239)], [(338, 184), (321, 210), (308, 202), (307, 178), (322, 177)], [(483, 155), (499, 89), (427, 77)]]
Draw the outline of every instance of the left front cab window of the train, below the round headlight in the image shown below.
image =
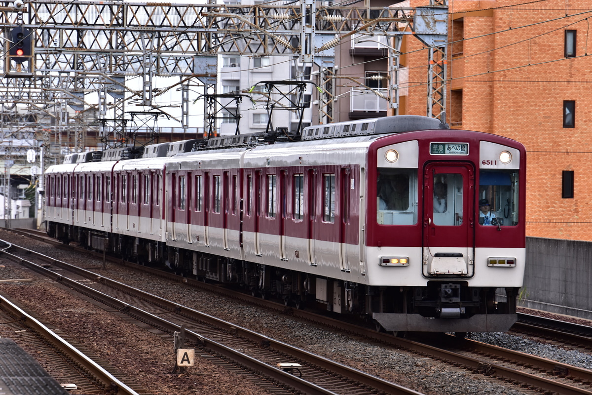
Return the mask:
[(417, 171), (378, 169), (377, 221), (381, 225), (417, 223)]

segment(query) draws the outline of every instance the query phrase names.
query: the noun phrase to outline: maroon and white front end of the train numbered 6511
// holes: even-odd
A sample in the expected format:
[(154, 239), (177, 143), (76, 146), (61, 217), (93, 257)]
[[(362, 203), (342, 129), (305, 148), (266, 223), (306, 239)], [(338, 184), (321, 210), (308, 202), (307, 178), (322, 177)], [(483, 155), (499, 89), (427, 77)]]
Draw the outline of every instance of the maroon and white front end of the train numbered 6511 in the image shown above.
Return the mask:
[(367, 312), (392, 331), (508, 330), (525, 271), (525, 147), (439, 129), (390, 134), (368, 155)]

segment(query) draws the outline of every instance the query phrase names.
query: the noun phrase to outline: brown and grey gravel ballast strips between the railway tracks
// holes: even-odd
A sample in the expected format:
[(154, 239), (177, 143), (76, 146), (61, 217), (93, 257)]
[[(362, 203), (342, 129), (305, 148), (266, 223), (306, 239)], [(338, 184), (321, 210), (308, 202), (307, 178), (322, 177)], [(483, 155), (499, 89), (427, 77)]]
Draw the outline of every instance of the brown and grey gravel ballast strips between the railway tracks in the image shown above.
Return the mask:
[[(492, 378), (446, 365), (443, 362), (351, 339), (332, 330), (294, 320), (288, 316), (278, 316), (225, 298), (216, 299), (211, 294), (197, 291), (184, 284), (156, 279), (148, 274), (138, 274), (122, 266), (107, 264), (106, 271), (96, 269), (97, 266), (102, 266), (102, 261), (54, 249), (46, 243), (27, 239), (12, 232), (0, 231), (0, 239), (85, 268), (94, 267), (93, 270), (105, 277), (147, 290), (157, 296), (326, 358), (345, 362), (351, 367), (377, 375), (400, 386), (412, 388), (419, 393), (426, 395), (532, 395), (538, 393), (517, 388), (512, 384), (500, 383)], [(0, 256), (0, 265), (3, 264), (5, 262), (2, 262)], [(63, 332), (85, 343), (102, 359), (117, 367), (122, 374), (139, 380), (151, 394), (259, 395), (268, 393), (248, 380), (200, 358), (196, 358), (195, 367), (189, 368), (185, 374), (173, 375), (170, 372), (173, 360), (172, 338), (170, 342), (164, 342), (157, 336), (150, 335), (119, 317), (111, 316), (92, 304), (67, 296), (51, 282), (31, 272), (12, 269), (11, 265), (6, 265), (6, 268), (0, 268), (0, 279), (25, 276), (33, 277), (34, 281), (2, 283), (0, 293), (14, 298), (21, 306), (36, 311), (38, 316), (43, 316), (51, 325), (59, 327)], [(578, 322), (587, 323), (583, 320)], [(2, 332), (1, 323), (0, 336), (7, 336)], [(468, 337), (504, 348), (530, 352), (565, 364), (592, 368), (592, 357), (589, 354), (537, 343), (519, 336), (494, 332), (470, 333)], [(43, 364), (43, 361), (41, 363)]]

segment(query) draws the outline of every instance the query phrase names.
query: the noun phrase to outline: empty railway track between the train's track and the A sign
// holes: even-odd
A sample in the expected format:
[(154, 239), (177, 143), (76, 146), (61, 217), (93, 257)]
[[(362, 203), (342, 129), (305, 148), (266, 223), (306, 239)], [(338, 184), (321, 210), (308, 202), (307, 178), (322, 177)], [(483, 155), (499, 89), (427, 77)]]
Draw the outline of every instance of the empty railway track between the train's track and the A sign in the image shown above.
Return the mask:
[(420, 394), (20, 246), (11, 245), (1, 256), (108, 306), (114, 313), (131, 317), (147, 329), (160, 331), (169, 339), (183, 328), (188, 345), (198, 349), (202, 357), (240, 367), (243, 374), (254, 377), (259, 386), (275, 394), (338, 394), (343, 393), (343, 388), (355, 395)]

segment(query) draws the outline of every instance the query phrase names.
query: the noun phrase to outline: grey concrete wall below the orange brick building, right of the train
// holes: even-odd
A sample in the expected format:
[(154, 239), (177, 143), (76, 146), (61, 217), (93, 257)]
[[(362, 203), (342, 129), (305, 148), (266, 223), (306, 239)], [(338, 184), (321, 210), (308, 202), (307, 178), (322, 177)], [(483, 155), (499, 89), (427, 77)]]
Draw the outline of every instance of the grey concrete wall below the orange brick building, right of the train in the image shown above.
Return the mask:
[(592, 319), (592, 242), (526, 239), (519, 306)]

